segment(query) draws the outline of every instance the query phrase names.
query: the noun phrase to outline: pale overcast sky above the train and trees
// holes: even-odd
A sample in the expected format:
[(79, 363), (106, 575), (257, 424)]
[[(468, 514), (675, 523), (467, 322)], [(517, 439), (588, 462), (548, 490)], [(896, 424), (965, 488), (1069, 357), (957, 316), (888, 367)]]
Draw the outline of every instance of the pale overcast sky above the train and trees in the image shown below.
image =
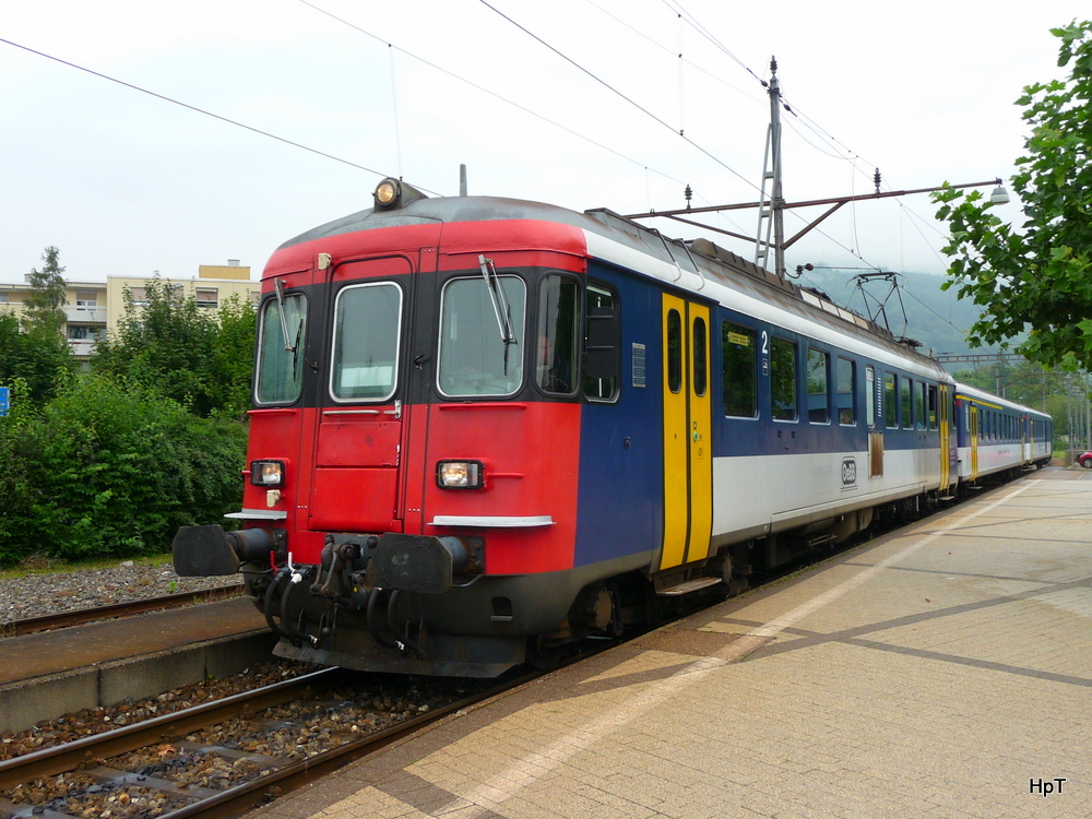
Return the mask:
[[(1088, 16), (1087, 0), (8, 0), (0, 282), (48, 246), (70, 281), (229, 259), (257, 277), (384, 176), (455, 195), (460, 164), (471, 194), (577, 211), (684, 207), (687, 186), (693, 206), (755, 202), (772, 57), (786, 201), (873, 192), (877, 168), (883, 191), (1007, 179), (1021, 90), (1066, 75), (1049, 29)], [(935, 210), (846, 205), (788, 266), (941, 274)], [(790, 212), (786, 234), (818, 215)], [(752, 236), (758, 215), (707, 221)]]

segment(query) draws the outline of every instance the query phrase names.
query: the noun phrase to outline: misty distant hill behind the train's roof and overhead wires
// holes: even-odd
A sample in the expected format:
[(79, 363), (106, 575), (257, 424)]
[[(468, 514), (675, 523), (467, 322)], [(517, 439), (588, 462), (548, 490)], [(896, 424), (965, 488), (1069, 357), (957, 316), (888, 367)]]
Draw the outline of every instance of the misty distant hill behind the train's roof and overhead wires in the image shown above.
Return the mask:
[(877, 306), (883, 304), (891, 332), (895, 336), (921, 342), (923, 353), (965, 355), (994, 352), (982, 347), (972, 349), (968, 345), (966, 330), (978, 318), (981, 310), (970, 300), (957, 298), (954, 288), (941, 290), (943, 277), (927, 273), (900, 273), (899, 290), (895, 293), (891, 293), (891, 282), (874, 278), (864, 285), (865, 293), (868, 294), (866, 298), (857, 288), (856, 275), (864, 271), (811, 270), (804, 271), (795, 281), (803, 287), (822, 290), (841, 307), (876, 319), (881, 327), (883, 319), (878, 314)]

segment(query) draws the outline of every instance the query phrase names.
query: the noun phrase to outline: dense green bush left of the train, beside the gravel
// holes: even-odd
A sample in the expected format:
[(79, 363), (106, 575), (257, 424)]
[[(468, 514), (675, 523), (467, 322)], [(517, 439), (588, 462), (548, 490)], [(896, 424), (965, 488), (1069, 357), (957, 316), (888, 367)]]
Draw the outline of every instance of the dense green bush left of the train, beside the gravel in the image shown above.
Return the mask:
[(153, 390), (61, 378), (40, 412), (0, 420), (0, 563), (169, 548), (175, 531), (238, 509), (246, 428)]

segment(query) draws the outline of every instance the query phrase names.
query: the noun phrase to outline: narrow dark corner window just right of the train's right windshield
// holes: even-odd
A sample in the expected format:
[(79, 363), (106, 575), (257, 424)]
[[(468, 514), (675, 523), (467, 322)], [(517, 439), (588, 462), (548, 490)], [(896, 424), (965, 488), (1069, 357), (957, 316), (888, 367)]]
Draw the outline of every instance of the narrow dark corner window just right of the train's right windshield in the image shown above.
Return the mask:
[(577, 391), (580, 286), (575, 280), (548, 275), (538, 287), (538, 336), (534, 347), (535, 384), (544, 392)]

